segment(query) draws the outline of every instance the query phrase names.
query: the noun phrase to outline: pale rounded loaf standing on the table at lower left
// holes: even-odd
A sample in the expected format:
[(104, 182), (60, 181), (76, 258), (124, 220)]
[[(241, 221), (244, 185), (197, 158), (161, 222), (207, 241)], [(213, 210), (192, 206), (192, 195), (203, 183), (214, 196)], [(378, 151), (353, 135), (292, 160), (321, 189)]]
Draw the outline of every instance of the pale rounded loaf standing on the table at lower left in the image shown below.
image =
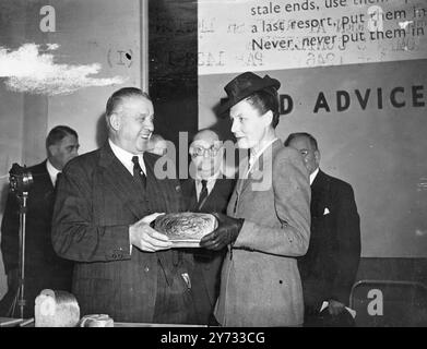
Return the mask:
[(36, 297), (35, 327), (75, 327), (80, 308), (75, 297), (66, 291), (45, 289)]

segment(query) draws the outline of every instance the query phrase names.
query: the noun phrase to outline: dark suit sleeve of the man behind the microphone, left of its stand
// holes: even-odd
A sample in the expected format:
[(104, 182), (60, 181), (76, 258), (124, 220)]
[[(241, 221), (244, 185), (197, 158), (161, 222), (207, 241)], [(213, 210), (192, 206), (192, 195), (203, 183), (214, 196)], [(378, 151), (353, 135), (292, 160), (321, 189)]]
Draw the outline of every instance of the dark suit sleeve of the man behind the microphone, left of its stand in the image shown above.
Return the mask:
[(20, 250), (20, 214), (17, 198), (9, 193), (1, 222), (1, 253), (3, 255), (4, 272), (8, 275), (19, 268)]

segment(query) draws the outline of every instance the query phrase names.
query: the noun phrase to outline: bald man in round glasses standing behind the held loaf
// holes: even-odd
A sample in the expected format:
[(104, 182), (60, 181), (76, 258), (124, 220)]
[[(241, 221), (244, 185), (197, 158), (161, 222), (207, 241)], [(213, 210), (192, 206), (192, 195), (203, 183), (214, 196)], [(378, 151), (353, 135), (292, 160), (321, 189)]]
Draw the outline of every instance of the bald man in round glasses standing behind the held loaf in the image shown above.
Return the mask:
[[(190, 173), (182, 182), (187, 210), (225, 214), (235, 186), (234, 179), (223, 176), (224, 148), (216, 132), (201, 130), (189, 149)], [(213, 325), (213, 310), (220, 292), (221, 267), (226, 250), (194, 250), (193, 298), (198, 324)]]

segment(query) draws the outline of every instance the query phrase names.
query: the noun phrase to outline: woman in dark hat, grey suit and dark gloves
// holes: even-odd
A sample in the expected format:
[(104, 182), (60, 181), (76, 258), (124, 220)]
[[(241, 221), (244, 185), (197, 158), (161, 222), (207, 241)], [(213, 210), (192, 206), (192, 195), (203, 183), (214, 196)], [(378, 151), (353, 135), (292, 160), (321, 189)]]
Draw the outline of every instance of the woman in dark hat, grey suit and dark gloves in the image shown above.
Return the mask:
[(303, 290), (296, 257), (310, 236), (310, 185), (298, 152), (275, 135), (280, 82), (246, 72), (225, 86), (224, 106), (248, 166), (228, 203), (216, 214), (218, 228), (201, 246), (228, 246), (215, 317), (223, 326), (303, 324)]

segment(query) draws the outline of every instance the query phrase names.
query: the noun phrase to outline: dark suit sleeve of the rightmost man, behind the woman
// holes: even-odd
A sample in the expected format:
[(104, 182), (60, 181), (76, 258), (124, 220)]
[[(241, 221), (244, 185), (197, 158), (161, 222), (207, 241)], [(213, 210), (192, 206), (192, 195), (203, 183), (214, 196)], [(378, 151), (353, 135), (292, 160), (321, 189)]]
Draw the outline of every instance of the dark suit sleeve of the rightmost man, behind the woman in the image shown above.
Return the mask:
[(337, 195), (337, 254), (336, 275), (331, 298), (348, 304), (352, 286), (355, 282), (360, 261), (360, 219), (352, 186), (345, 185)]

